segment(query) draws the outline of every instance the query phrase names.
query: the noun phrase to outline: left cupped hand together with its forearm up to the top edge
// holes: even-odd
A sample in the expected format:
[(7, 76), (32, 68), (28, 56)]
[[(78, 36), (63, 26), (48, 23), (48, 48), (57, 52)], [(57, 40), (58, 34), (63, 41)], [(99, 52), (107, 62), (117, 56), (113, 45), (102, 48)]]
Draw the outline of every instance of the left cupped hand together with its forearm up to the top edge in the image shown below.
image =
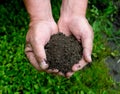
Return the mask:
[(25, 48), (29, 61), (37, 70), (63, 75), (57, 69), (47, 70), (49, 65), (45, 62), (44, 46), (51, 35), (58, 32), (57, 24), (52, 16), (50, 0), (24, 0), (24, 4), (31, 21)]

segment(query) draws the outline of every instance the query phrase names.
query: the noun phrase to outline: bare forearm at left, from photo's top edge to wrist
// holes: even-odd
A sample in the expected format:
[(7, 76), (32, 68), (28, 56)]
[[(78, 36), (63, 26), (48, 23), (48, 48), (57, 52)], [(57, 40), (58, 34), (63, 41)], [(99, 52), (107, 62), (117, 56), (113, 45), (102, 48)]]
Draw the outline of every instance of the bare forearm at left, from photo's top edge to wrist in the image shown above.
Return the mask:
[(30, 20), (51, 20), (52, 12), (50, 0), (24, 0)]

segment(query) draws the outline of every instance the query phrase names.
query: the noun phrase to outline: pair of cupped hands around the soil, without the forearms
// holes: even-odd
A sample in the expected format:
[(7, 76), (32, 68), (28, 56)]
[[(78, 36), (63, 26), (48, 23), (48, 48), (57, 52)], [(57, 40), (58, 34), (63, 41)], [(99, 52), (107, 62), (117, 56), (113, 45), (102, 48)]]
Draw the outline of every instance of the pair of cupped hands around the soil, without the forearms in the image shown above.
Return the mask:
[[(73, 65), (72, 72), (63, 74), (58, 69), (47, 69), (45, 45), (53, 34), (62, 32), (66, 36), (73, 34), (82, 43), (83, 56), (80, 61)], [(93, 31), (86, 17), (60, 17), (58, 24), (54, 19), (31, 21), (26, 35), (25, 53), (30, 63), (39, 71), (71, 77), (76, 71), (92, 62), (91, 53), (93, 46)]]

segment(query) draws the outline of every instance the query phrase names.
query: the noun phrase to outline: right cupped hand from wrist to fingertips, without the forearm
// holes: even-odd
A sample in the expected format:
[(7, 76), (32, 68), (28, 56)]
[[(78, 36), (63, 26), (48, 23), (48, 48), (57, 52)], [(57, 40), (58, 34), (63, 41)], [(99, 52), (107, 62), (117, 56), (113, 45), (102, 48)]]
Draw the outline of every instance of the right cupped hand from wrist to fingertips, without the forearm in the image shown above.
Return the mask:
[(84, 16), (61, 16), (58, 21), (58, 28), (66, 36), (73, 34), (83, 46), (82, 59), (72, 67), (73, 72), (67, 73), (67, 77), (70, 77), (75, 71), (82, 69), (88, 62), (92, 61), (93, 31)]

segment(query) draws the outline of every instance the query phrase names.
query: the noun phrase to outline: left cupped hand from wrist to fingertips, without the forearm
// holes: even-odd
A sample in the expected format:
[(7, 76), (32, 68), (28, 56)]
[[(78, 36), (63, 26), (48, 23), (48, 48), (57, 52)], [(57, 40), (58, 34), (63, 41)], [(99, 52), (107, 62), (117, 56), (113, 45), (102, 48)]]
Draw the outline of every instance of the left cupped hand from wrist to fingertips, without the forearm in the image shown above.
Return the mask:
[[(54, 21), (34, 21), (26, 36), (25, 53), (30, 63), (39, 71), (46, 71), (46, 54), (44, 46), (49, 41), (51, 35), (58, 33), (57, 25)], [(53, 70), (53, 72), (56, 72)]]

